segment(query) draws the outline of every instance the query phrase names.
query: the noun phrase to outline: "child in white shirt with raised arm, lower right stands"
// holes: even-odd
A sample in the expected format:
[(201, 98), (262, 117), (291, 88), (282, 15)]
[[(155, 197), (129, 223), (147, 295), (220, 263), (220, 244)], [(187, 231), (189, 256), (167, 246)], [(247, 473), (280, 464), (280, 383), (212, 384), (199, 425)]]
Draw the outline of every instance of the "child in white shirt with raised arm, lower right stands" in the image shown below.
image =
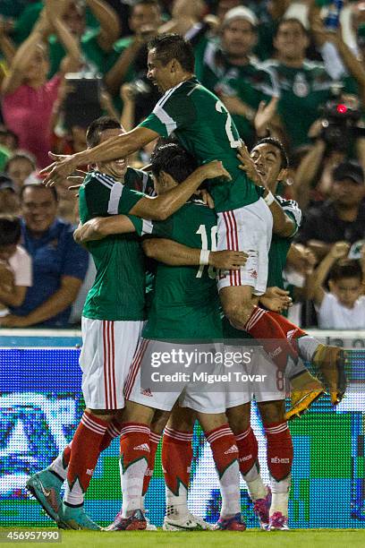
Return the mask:
[[(324, 330), (365, 329), (365, 296), (360, 261), (344, 259), (349, 244), (337, 242), (308, 279), (307, 291), (318, 307), (318, 327)], [(329, 292), (325, 281), (329, 273)]]

